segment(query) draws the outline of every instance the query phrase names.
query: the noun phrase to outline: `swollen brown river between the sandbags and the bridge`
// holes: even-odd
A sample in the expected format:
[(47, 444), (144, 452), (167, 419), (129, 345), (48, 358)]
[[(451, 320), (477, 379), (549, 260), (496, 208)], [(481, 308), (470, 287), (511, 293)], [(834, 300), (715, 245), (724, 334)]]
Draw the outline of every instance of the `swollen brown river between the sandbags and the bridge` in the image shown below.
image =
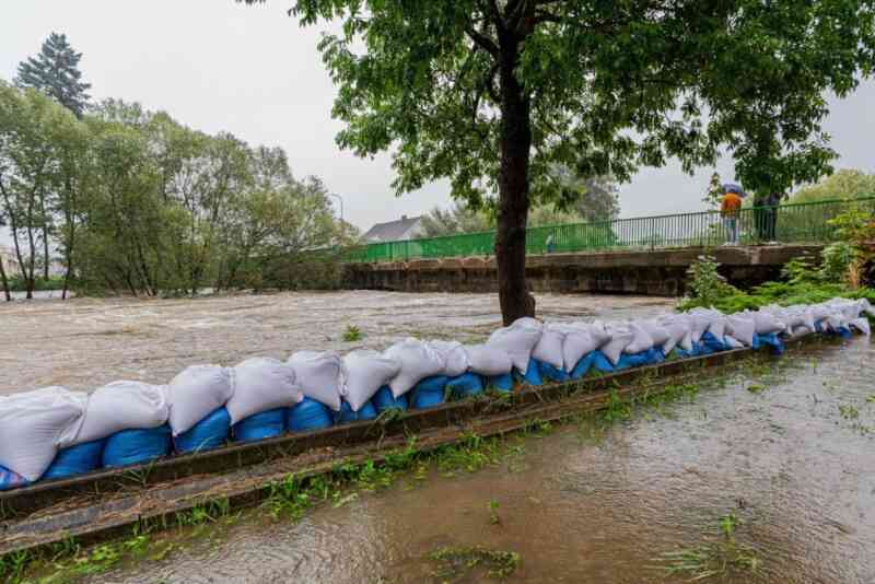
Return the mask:
[[(548, 320), (621, 319), (672, 308), (644, 296), (540, 295)], [(481, 341), (501, 326), (494, 294), (278, 293), (177, 300), (0, 303), (0, 395), (117, 379), (167, 383), (188, 365), (299, 350), (383, 350), (409, 336)], [(345, 342), (347, 327), (360, 341)]]

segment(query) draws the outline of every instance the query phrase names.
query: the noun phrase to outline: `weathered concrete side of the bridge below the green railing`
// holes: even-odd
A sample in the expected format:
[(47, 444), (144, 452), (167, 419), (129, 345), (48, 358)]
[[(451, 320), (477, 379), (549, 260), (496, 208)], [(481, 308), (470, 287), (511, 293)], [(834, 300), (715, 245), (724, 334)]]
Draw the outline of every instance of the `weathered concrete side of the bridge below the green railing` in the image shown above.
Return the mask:
[[(678, 296), (684, 294), (687, 268), (710, 254), (734, 285), (750, 288), (780, 276), (781, 267), (817, 245), (682, 248), (653, 252), (552, 254), (529, 256), (526, 275), (535, 292), (609, 293)], [(497, 292), (493, 257), (417, 259), (345, 266), (345, 287), (404, 292)]]

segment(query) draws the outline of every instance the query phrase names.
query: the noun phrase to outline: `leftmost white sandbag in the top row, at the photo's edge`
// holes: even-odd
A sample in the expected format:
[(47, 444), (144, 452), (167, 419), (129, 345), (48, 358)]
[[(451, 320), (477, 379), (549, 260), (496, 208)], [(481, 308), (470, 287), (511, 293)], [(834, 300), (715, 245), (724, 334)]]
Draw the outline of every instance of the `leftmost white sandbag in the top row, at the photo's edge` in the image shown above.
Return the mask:
[(84, 393), (63, 387), (0, 398), (0, 466), (37, 480), (58, 448), (74, 442), (86, 404)]

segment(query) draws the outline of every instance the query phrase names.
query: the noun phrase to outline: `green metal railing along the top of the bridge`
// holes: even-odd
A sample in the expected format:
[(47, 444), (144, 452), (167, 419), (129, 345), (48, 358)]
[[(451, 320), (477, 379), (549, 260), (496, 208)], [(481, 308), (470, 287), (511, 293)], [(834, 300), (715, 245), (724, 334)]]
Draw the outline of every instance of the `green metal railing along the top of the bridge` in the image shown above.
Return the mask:
[[(769, 240), (782, 243), (830, 242), (836, 229), (829, 220), (851, 208), (875, 212), (875, 197), (855, 200), (782, 205), (770, 220), (770, 209), (742, 209), (737, 217), (738, 243)], [(730, 230), (720, 211), (616, 219), (597, 223), (570, 223), (526, 230), (528, 254), (603, 249), (656, 249), (716, 246), (728, 241)], [(350, 261), (397, 261), (417, 258), (491, 256), (495, 232), (466, 233), (402, 242), (369, 244), (350, 252)]]

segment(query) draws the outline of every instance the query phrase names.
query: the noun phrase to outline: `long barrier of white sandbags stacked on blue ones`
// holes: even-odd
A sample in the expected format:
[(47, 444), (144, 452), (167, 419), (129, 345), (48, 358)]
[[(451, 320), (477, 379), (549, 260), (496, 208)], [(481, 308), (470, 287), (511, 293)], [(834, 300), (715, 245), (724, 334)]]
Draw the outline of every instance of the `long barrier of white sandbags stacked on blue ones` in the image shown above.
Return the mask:
[(388, 408), (428, 408), (486, 387), (564, 382), (815, 332), (870, 334), (865, 300), (836, 299), (724, 315), (697, 308), (626, 323), (544, 324), (521, 318), (486, 343), (406, 339), (383, 353), (301, 351), (287, 362), (195, 365), (167, 385), (115, 382), (88, 395), (62, 387), (0, 397), (0, 490), (98, 468), (214, 448), (231, 437), (368, 420)]

